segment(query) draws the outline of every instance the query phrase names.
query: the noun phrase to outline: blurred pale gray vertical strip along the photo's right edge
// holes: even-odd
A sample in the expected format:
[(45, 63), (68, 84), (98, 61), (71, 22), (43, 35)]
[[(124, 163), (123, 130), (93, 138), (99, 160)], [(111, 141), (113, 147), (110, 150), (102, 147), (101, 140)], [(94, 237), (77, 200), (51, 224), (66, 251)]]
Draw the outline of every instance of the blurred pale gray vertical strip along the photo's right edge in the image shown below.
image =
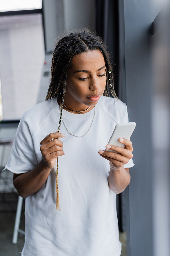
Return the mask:
[[(166, 8), (167, 9), (167, 8)], [(153, 246), (154, 256), (170, 255), (170, 30), (163, 9), (161, 27), (153, 41), (153, 95), (152, 95), (152, 145), (153, 145)], [(155, 22), (156, 22), (155, 21)]]

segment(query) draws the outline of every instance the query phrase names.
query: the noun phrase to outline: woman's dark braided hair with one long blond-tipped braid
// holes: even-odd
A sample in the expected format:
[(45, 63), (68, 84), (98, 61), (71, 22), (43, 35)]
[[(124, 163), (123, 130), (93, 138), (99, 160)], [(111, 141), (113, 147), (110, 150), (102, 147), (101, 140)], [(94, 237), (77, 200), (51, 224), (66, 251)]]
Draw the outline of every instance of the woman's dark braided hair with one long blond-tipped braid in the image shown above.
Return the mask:
[[(107, 51), (107, 46), (96, 32), (90, 31), (88, 28), (82, 30), (74, 30), (66, 36), (63, 36), (56, 44), (53, 53), (51, 66), (51, 82), (47, 92), (46, 100), (54, 97), (62, 97), (60, 103), (60, 121), (58, 125), (58, 132), (60, 132), (64, 96), (66, 91), (67, 70), (71, 67), (71, 62), (74, 55), (83, 52), (99, 50), (104, 57), (106, 66), (106, 86), (103, 95), (107, 97), (117, 98), (113, 86), (113, 72), (112, 64)], [(118, 98), (117, 98), (118, 99)], [(58, 157), (57, 157), (57, 171), (56, 171), (56, 209), (59, 208), (59, 190), (58, 190)]]

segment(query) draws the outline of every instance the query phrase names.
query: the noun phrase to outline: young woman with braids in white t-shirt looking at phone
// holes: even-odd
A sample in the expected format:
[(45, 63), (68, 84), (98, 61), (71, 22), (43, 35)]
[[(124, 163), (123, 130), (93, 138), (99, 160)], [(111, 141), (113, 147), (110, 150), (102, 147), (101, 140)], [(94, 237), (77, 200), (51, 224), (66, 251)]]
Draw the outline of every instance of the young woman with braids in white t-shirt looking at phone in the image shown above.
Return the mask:
[(130, 182), (133, 149), (107, 142), (123, 122), (102, 39), (87, 29), (63, 37), (46, 101), (23, 115), (6, 165), (26, 198), (22, 256), (120, 256), (116, 194)]

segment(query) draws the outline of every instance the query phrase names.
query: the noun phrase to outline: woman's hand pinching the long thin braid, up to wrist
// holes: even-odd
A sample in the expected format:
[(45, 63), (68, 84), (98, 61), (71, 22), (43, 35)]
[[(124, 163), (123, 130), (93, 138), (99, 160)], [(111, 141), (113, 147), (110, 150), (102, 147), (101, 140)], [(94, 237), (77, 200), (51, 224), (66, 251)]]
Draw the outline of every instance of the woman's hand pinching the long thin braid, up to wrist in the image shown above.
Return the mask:
[(57, 157), (65, 154), (63, 151), (63, 142), (60, 141), (60, 138), (64, 136), (64, 134), (59, 132), (50, 133), (41, 141), (42, 162), (50, 169), (55, 166)]

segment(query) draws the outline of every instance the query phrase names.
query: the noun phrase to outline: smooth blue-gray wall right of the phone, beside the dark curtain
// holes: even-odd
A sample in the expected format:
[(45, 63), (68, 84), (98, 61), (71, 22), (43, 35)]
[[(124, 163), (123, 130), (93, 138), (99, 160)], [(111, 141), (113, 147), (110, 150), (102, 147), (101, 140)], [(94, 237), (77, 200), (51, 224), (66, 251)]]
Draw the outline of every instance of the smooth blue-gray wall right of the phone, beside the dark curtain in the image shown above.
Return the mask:
[[(131, 182), (127, 190), (129, 256), (155, 255), (152, 201), (153, 36), (149, 29), (161, 8), (162, 3), (158, 0), (124, 0), (127, 105), (129, 121), (137, 123), (131, 137), (135, 166), (130, 170)], [(161, 255), (165, 254), (162, 252)]]

